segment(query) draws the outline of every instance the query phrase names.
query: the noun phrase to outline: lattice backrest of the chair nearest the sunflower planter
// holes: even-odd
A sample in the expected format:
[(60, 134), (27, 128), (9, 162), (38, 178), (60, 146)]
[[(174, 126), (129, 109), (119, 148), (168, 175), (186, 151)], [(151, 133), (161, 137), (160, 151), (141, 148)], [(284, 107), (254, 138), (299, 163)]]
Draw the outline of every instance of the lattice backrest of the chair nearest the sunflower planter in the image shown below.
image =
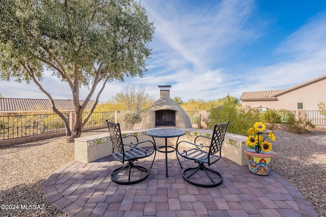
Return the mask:
[(215, 125), (213, 135), (212, 135), (212, 140), (209, 147), (209, 154), (215, 154), (217, 152), (220, 152), (220, 156), (221, 156), (222, 144), (229, 123), (230, 121), (220, 123), (220, 125), (218, 124)]

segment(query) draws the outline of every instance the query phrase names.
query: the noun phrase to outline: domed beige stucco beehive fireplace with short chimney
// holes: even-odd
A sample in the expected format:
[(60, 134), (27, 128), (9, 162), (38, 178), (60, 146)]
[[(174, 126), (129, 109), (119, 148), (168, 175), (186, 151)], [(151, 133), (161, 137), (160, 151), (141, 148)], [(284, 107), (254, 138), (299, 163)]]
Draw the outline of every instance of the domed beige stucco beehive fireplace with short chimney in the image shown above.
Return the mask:
[(161, 127), (193, 128), (187, 113), (170, 98), (171, 85), (158, 85), (158, 99), (144, 114), (141, 129)]

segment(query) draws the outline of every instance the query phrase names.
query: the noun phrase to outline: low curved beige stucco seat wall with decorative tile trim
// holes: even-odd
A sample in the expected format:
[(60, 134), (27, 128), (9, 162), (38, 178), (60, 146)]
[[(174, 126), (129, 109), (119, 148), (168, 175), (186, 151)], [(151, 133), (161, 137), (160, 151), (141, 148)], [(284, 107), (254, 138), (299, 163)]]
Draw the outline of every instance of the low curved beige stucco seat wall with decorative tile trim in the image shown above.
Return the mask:
[[(133, 131), (122, 131), (122, 135), (135, 135), (139, 141), (150, 140), (151, 137), (147, 136), (146, 132), (149, 129), (133, 130)], [(212, 130), (185, 128), (185, 135), (180, 137), (179, 140), (185, 140), (194, 142), (194, 139), (198, 135), (211, 137)], [(207, 139), (206, 139), (207, 140)], [(227, 158), (240, 166), (247, 165), (246, 154), (244, 154), (244, 147), (246, 147), (247, 137), (236, 134), (227, 133), (225, 135), (222, 157)], [(175, 146), (177, 138), (168, 138), (168, 145)], [(209, 141), (209, 140), (208, 140)], [(125, 143), (134, 142), (132, 138), (125, 138)], [(155, 138), (156, 145), (165, 144), (164, 138)], [(199, 143), (202, 141), (198, 141)], [(203, 140), (205, 145), (207, 141)], [(149, 144), (141, 144), (140, 147), (146, 147)], [(75, 139), (75, 160), (89, 163), (100, 158), (110, 156), (112, 154), (112, 143), (110, 141), (110, 134), (103, 133), (92, 136), (80, 137)]]

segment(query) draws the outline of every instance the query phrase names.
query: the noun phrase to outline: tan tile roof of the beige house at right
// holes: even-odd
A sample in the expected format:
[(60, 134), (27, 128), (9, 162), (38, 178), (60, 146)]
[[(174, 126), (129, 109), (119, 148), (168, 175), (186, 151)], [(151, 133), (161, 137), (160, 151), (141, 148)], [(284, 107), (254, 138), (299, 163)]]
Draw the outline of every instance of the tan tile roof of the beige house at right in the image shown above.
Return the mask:
[(241, 101), (262, 101), (262, 100), (275, 100), (277, 96), (282, 94), (286, 94), (286, 92), (295, 90), (297, 88), (306, 86), (308, 84), (312, 84), (314, 82), (326, 79), (326, 74), (319, 76), (317, 78), (311, 79), (309, 81), (303, 82), (301, 84), (292, 86), (288, 89), (284, 90), (266, 90), (266, 91), (251, 91), (251, 92), (243, 92), (240, 99)]

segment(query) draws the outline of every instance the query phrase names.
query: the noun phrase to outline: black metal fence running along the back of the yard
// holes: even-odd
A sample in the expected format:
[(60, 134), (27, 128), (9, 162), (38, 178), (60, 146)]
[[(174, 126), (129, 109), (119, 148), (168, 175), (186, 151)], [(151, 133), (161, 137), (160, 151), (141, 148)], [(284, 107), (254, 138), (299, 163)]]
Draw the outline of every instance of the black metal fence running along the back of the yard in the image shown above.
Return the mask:
[[(200, 119), (199, 111), (185, 111), (192, 124), (197, 124)], [(262, 111), (269, 112), (269, 111)], [(289, 116), (296, 117), (296, 111), (278, 112), (282, 122), (286, 122)], [(88, 113), (83, 113), (85, 119)], [(63, 114), (70, 122), (70, 113)], [(115, 111), (93, 112), (84, 129), (106, 126), (105, 120), (115, 121)], [(305, 118), (315, 126), (326, 126), (326, 111), (306, 111)], [(63, 120), (57, 114), (22, 114), (0, 115), (0, 141), (6, 139), (65, 132)]]

